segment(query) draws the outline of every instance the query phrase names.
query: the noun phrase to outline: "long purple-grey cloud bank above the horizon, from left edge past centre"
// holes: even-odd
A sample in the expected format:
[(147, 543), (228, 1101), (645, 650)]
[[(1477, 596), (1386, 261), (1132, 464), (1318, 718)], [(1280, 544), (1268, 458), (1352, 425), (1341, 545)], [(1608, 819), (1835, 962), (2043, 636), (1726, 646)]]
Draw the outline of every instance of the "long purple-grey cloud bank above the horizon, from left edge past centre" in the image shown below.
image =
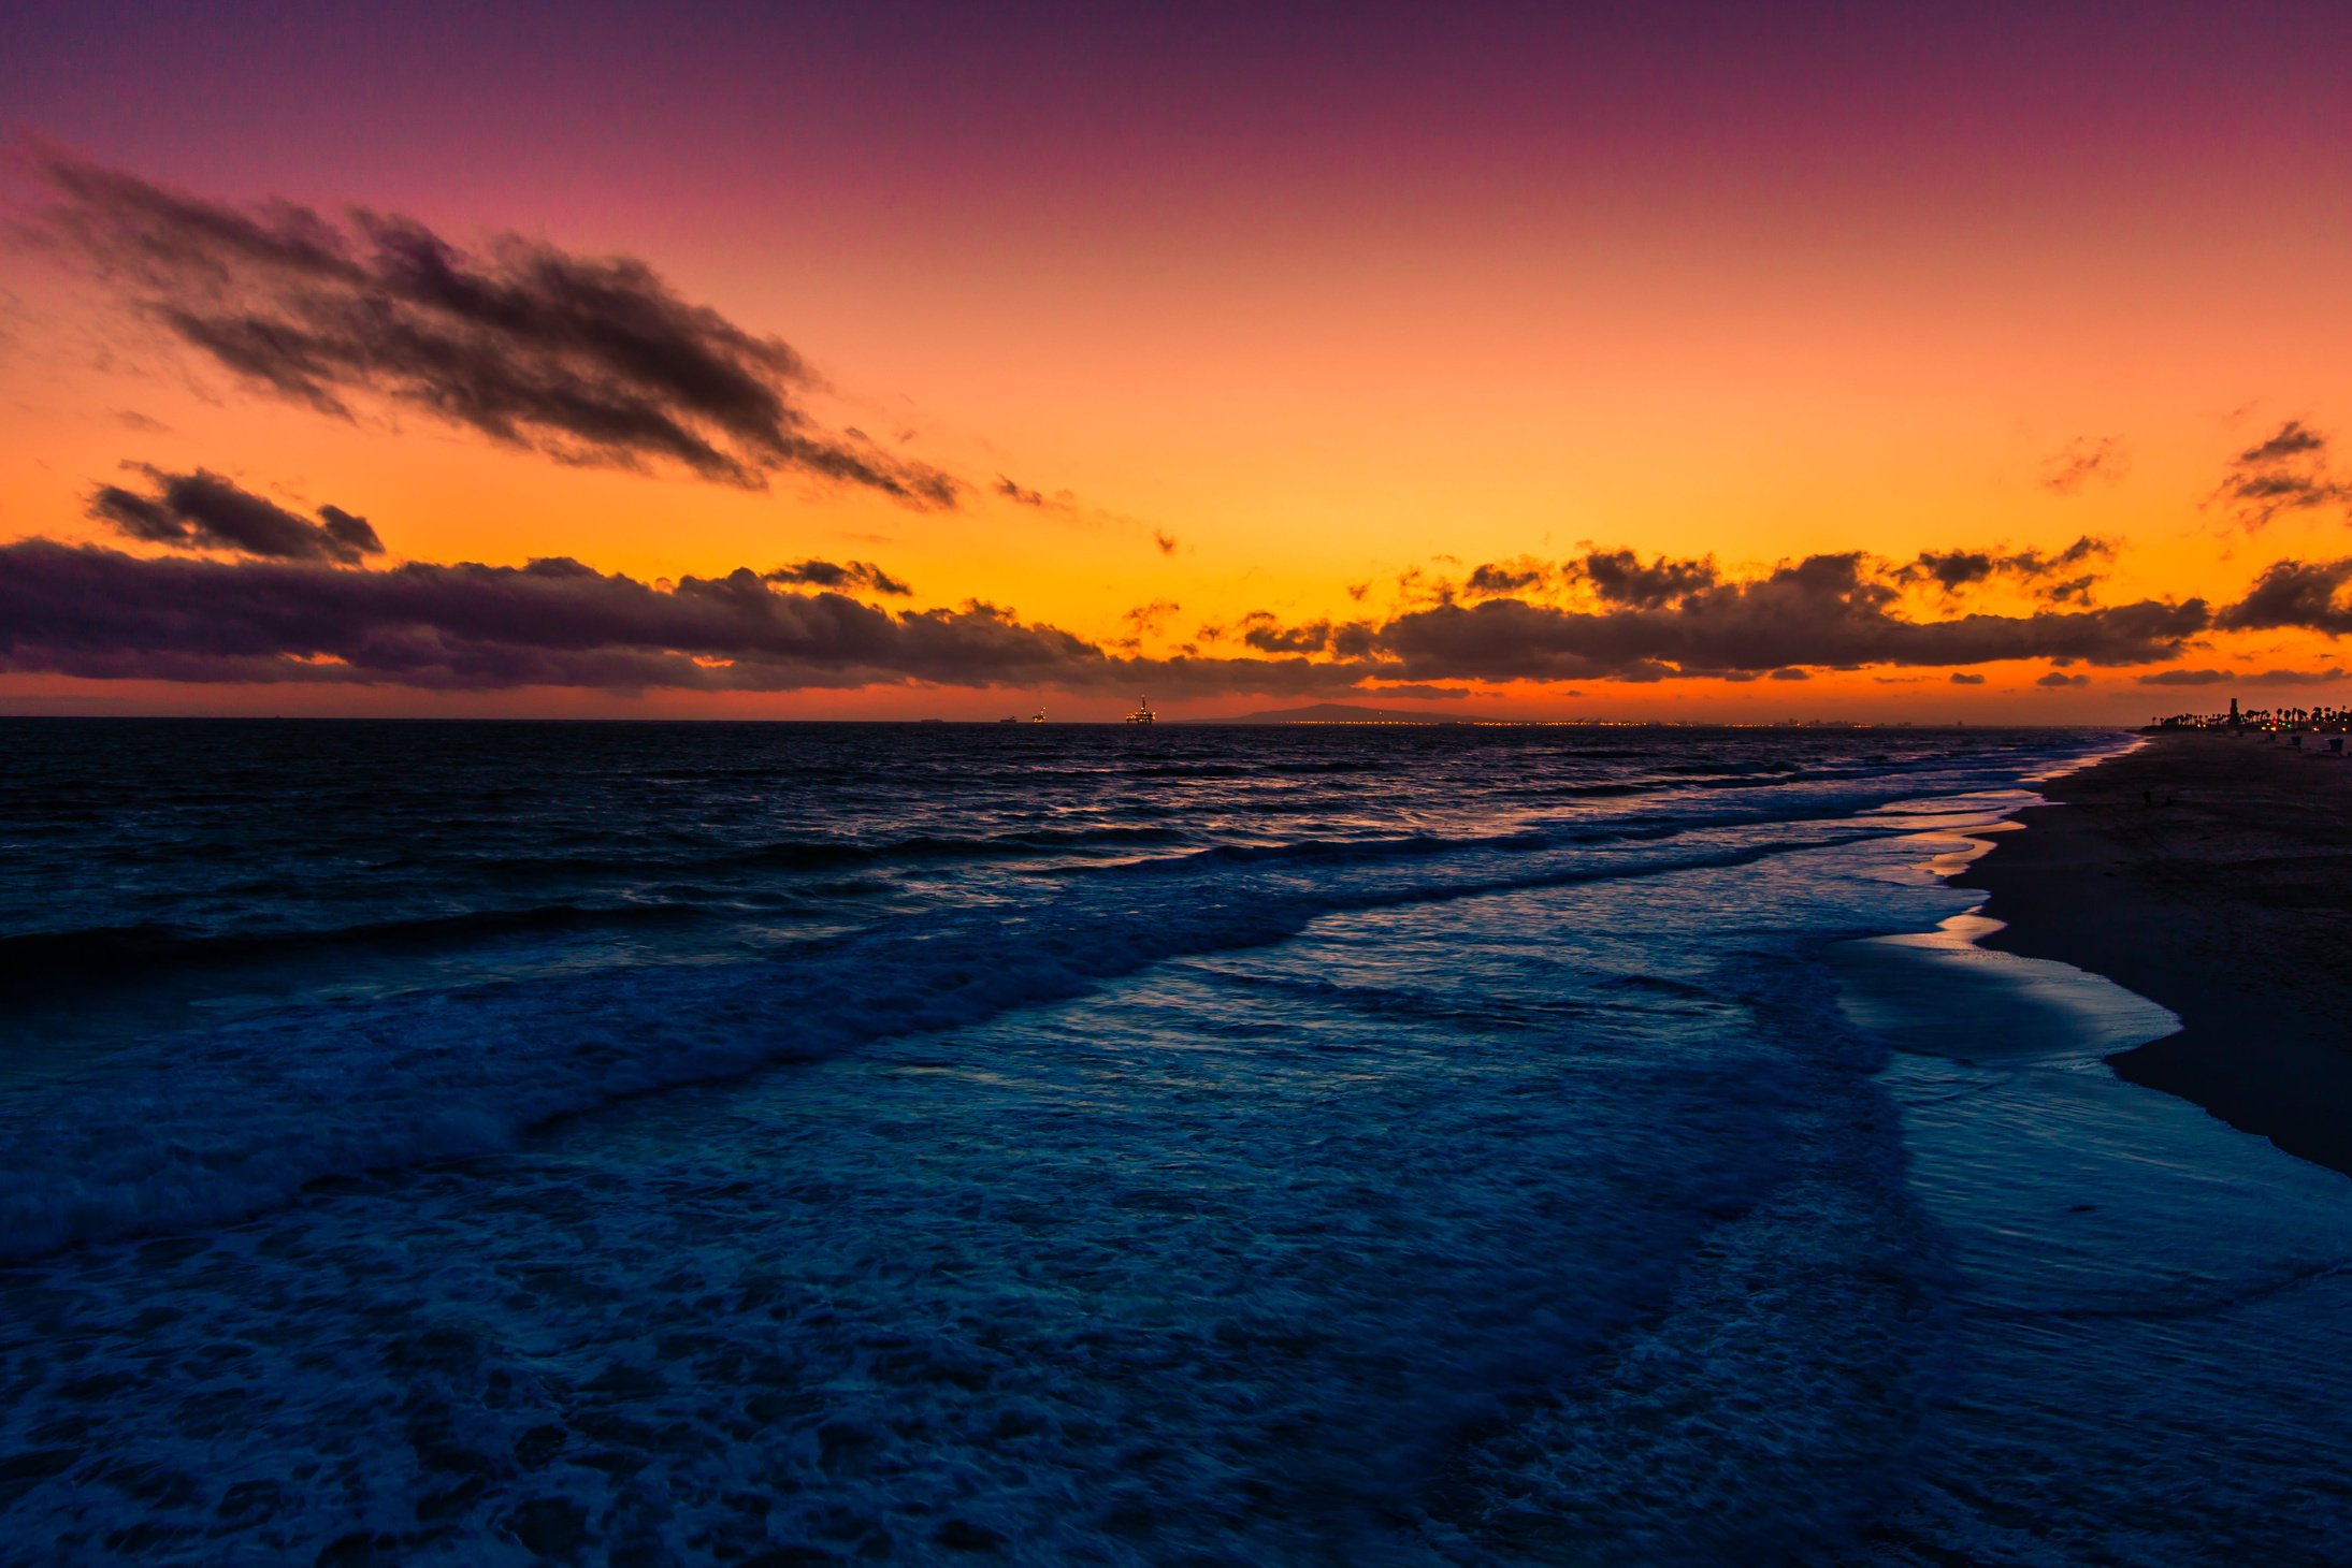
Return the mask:
[[(174, 682), (793, 691), (946, 684), (1336, 693), (1392, 661), (1117, 658), (993, 604), (887, 611), (753, 571), (663, 592), (572, 559), (529, 567), (141, 559), (0, 545), (0, 668)], [(1143, 682), (1138, 686), (1138, 682)]]

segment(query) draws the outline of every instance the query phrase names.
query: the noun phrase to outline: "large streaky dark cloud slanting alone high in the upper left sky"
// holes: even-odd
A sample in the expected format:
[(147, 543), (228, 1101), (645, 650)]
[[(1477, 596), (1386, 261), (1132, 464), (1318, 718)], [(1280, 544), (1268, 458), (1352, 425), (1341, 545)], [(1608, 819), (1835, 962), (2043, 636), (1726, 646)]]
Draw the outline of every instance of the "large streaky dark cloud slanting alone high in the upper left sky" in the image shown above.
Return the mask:
[(64, 155), (40, 172), (49, 230), (151, 320), (322, 414), (376, 397), (564, 463), (675, 463), (746, 489), (800, 473), (955, 505), (946, 473), (818, 428), (790, 346), (630, 256), (520, 235), (466, 252), (397, 214), (233, 207)]

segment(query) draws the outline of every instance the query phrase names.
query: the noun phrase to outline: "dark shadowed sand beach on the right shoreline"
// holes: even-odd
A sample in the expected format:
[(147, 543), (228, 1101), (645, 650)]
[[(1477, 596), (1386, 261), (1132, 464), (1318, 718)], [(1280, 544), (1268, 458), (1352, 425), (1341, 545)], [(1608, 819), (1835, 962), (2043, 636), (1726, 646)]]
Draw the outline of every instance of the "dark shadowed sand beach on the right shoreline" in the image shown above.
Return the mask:
[(1985, 945), (2164, 1004), (2180, 1032), (2122, 1077), (2352, 1175), (2352, 762), (2159, 733), (2042, 795), (1959, 877), (2006, 922)]

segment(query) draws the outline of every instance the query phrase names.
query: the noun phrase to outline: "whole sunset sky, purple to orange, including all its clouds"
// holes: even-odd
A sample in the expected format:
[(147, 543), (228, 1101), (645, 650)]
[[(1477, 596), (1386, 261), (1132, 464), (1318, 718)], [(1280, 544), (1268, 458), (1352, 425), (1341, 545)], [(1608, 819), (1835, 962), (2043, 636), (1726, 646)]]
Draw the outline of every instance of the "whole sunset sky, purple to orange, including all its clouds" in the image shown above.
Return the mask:
[(2352, 701), (2352, 12), (38, 5), (0, 710)]

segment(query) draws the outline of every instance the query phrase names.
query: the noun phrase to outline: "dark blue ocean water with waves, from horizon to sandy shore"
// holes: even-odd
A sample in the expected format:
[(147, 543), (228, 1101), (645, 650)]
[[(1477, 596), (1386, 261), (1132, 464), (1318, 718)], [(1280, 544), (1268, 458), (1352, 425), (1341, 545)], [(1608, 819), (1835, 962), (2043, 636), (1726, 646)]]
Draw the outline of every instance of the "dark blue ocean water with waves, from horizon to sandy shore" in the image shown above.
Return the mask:
[(2343, 1561), (2117, 745), (0, 722), (0, 1561)]

